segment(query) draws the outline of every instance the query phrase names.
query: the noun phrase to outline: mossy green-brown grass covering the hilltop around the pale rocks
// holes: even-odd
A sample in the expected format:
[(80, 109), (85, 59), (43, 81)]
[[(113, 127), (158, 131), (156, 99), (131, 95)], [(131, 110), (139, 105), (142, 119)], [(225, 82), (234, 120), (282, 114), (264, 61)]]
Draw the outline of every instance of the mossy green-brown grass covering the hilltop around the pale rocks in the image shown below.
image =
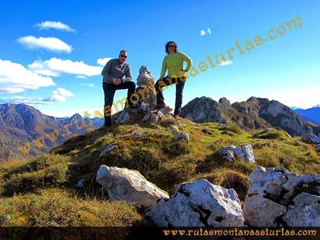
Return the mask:
[[(174, 133), (168, 128), (171, 124), (186, 131), (190, 142), (173, 141)], [(134, 130), (147, 134), (132, 135)], [(115, 149), (98, 158), (110, 143), (115, 143)], [(197, 124), (184, 119), (168, 119), (160, 125), (115, 125), (108, 131), (90, 130), (70, 138), (38, 159), (2, 163), (0, 215), (13, 219), (3, 225), (142, 223), (138, 209), (125, 202), (106, 201), (95, 184), (102, 164), (138, 170), (170, 194), (181, 182), (206, 178), (212, 184), (233, 188), (244, 200), (248, 175), (255, 166), (242, 161), (229, 163), (216, 153), (225, 145), (243, 143), (253, 145), (259, 166), (284, 166), (297, 174), (320, 172), (320, 157), (314, 147), (280, 129), (245, 131), (236, 125), (220, 127), (218, 123)], [(75, 186), (79, 179), (85, 179), (83, 189)]]

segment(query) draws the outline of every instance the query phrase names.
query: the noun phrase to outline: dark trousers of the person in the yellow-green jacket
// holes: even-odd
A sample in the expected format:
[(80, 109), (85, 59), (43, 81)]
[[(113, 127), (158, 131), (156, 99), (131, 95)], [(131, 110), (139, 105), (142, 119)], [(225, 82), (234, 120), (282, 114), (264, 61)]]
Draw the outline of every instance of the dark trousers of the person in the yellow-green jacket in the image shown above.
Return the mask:
[(174, 114), (180, 114), (182, 106), (182, 92), (184, 90), (184, 83), (186, 82), (185, 77), (170, 78), (165, 77), (162, 80), (156, 82), (157, 91), (157, 104), (164, 104), (164, 97), (162, 93), (162, 88), (165, 86), (170, 86), (175, 84), (175, 111)]

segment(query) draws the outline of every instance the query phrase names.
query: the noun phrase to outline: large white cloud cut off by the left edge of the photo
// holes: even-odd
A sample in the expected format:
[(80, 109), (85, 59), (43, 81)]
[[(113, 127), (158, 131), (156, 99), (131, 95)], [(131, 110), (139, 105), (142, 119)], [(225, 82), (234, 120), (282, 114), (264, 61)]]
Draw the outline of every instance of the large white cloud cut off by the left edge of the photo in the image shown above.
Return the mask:
[(0, 59), (0, 94), (21, 93), (26, 89), (38, 89), (56, 85), (50, 77), (42, 77), (27, 70), (19, 63)]

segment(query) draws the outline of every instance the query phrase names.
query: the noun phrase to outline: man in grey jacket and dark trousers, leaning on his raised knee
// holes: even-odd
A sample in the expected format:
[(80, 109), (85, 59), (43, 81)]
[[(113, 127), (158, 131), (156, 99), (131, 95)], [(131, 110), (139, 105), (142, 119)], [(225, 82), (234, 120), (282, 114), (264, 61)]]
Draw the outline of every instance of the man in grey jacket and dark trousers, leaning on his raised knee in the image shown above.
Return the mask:
[[(104, 125), (111, 126), (111, 107), (115, 90), (128, 89), (126, 107), (134, 108), (134, 92), (136, 83), (131, 81), (131, 70), (126, 63), (128, 54), (126, 50), (121, 50), (119, 58), (111, 59), (102, 70), (102, 87), (104, 89)], [(124, 78), (125, 76), (125, 78)]]

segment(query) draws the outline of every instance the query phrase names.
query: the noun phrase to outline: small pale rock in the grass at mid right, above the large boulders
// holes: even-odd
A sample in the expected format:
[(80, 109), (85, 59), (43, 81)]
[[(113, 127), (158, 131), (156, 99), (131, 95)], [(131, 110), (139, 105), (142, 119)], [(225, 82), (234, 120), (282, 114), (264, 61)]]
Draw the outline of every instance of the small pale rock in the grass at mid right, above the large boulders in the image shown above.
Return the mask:
[(249, 164), (255, 163), (255, 155), (253, 154), (253, 146), (245, 143), (241, 146), (226, 146), (221, 147), (220, 150), (218, 150), (218, 153), (221, 154), (227, 161), (234, 161), (234, 160), (240, 160), (245, 161)]

